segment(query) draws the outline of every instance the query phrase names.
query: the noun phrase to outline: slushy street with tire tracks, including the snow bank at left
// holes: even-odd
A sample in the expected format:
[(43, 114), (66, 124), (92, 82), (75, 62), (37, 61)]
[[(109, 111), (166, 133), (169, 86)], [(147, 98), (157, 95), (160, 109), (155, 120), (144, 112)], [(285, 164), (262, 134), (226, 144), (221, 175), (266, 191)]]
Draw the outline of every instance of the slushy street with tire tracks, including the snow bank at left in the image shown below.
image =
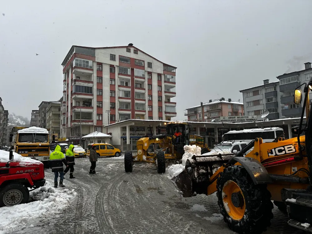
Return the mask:
[[(54, 174), (45, 170), (47, 185), (31, 192), (33, 202), (0, 208), (0, 233), (233, 233), (215, 194), (182, 197), (168, 170), (140, 163), (125, 173), (122, 157), (99, 158), (90, 175), (88, 158), (75, 162), (76, 179), (66, 174), (65, 188), (50, 188)], [(276, 207), (273, 213), (265, 233), (304, 233)]]

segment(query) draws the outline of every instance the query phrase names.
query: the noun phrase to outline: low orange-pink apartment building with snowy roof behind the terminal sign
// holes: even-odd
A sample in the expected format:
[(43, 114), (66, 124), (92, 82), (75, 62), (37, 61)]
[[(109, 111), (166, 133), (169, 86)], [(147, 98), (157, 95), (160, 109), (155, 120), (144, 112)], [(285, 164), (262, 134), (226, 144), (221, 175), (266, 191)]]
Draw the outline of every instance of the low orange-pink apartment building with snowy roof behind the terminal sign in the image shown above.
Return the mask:
[(230, 98), (212, 100), (207, 103), (193, 106), (185, 110), (184, 115), (188, 116), (188, 121), (195, 122), (220, 122), (221, 116), (242, 116), (244, 115), (244, 105), (241, 102), (233, 102)]

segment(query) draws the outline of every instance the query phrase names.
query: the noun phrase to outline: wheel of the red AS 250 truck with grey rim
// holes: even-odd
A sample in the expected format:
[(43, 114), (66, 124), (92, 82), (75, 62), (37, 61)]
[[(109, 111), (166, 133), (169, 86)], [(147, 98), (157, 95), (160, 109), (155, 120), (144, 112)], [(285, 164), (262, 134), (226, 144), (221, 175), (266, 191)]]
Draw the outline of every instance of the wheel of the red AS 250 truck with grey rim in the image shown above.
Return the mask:
[(28, 199), (29, 191), (21, 183), (8, 184), (0, 191), (0, 207), (18, 205), (27, 202)]

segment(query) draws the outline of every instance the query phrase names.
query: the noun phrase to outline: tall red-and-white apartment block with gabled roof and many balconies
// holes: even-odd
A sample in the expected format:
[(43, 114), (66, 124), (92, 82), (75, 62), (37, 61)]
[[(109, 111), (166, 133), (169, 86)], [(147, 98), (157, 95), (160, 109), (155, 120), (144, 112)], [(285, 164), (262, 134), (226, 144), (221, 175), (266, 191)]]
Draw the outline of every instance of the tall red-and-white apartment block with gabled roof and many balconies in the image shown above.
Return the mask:
[(171, 100), (176, 96), (176, 67), (133, 44), (72, 46), (62, 66), (62, 137), (80, 136), (80, 122), (85, 135), (115, 121), (176, 116)]

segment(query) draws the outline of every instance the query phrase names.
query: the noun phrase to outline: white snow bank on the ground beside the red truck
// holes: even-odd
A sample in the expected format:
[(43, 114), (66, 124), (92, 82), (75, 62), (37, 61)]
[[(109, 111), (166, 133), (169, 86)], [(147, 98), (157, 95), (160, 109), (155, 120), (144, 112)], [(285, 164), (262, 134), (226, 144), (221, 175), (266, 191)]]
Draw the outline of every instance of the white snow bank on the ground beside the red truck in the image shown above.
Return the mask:
[(32, 200), (26, 204), (0, 208), (0, 233), (11, 233), (34, 227), (35, 222), (61, 214), (76, 196), (74, 189), (55, 189), (43, 186), (31, 192)]

